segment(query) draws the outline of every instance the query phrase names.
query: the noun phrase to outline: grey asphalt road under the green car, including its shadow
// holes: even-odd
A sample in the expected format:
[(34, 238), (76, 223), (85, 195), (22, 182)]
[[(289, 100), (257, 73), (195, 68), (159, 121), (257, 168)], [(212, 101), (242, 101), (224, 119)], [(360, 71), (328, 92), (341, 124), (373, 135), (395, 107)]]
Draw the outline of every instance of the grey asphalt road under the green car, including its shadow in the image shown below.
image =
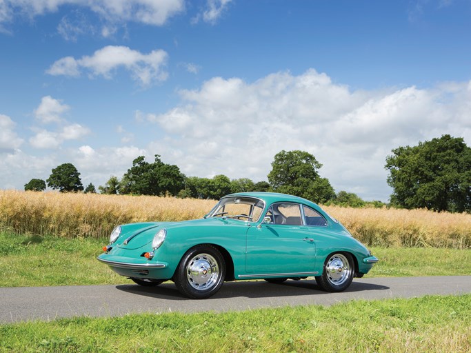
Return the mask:
[(210, 299), (191, 300), (173, 283), (139, 285), (0, 288), (0, 323), (54, 320), (70, 316), (121, 316), (151, 312), (224, 312), (284, 305), (332, 305), (354, 299), (410, 298), (426, 294), (471, 293), (471, 276), (354, 279), (341, 293), (319, 290), (314, 279), (271, 284), (224, 283)]

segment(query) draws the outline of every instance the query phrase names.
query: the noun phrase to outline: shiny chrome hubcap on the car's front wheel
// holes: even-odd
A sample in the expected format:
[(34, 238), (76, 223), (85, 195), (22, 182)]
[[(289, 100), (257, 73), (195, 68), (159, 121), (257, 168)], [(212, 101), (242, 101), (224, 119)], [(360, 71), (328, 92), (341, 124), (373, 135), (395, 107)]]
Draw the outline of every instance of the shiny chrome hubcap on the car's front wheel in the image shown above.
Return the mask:
[(217, 283), (219, 266), (209, 254), (194, 256), (186, 266), (188, 283), (197, 290), (208, 290)]

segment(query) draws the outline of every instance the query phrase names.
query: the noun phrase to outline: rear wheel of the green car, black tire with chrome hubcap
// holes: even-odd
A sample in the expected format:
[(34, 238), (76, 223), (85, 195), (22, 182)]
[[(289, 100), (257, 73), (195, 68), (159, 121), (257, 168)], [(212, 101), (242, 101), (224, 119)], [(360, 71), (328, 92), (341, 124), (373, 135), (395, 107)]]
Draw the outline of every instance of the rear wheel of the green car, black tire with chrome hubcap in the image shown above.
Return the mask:
[(315, 279), (326, 292), (342, 292), (352, 283), (354, 270), (352, 255), (337, 252), (327, 256), (322, 276), (315, 276)]

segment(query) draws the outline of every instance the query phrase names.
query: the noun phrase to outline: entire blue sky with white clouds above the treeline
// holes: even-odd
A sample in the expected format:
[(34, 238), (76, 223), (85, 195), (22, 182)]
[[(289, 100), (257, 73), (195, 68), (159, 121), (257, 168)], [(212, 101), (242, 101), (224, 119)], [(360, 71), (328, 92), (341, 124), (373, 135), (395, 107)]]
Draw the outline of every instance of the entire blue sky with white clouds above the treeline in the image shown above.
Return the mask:
[(470, 20), (470, 0), (0, 0), (0, 188), (154, 154), (261, 181), (299, 149), (388, 201), (392, 148), (470, 144)]

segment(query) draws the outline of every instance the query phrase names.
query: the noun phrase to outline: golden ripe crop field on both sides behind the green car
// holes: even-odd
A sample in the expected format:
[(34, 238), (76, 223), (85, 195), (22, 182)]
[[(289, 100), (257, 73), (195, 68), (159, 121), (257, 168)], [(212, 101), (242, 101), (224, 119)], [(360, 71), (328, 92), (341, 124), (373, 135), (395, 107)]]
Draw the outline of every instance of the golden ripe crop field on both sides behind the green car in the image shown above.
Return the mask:
[[(0, 190), (0, 228), (19, 234), (95, 238), (119, 224), (201, 218), (214, 200)], [(367, 245), (471, 248), (471, 214), (386, 208), (324, 210)]]

